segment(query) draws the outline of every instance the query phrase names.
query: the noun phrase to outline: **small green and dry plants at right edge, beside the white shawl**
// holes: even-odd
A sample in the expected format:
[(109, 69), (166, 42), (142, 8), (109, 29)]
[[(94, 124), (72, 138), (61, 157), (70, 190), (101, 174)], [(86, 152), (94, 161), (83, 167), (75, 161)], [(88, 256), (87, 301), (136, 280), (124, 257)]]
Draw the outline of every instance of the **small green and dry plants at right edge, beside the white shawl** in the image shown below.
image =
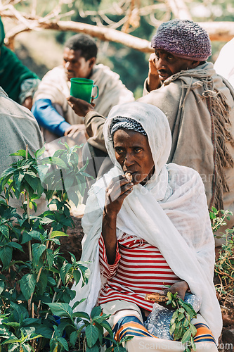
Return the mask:
[(223, 239), (223, 244), (221, 244), (221, 250), (216, 256), (214, 266), (216, 291), (219, 292), (219, 300), (223, 301), (226, 301), (228, 296), (234, 293), (234, 230), (226, 229), (225, 232), (219, 236), (217, 236), (215, 232), (221, 226), (227, 225), (226, 220), (230, 220), (230, 215), (233, 215), (230, 210), (217, 210), (214, 207), (209, 213), (212, 220), (214, 236)]

